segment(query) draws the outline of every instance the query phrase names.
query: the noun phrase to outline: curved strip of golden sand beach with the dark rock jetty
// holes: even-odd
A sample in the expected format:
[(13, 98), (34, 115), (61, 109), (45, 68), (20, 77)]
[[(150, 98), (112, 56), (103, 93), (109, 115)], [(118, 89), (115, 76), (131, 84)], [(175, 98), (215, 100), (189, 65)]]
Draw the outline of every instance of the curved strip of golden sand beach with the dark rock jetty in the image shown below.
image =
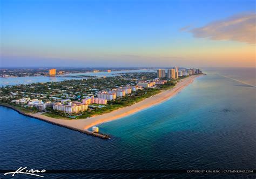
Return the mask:
[(47, 116), (43, 116), (41, 113), (25, 113), (15, 108), (15, 106), (11, 106), (9, 104), (0, 104), (3, 106), (6, 106), (8, 108), (14, 109), (15, 111), (23, 114), (24, 116), (36, 118), (39, 120), (46, 121), (51, 124), (55, 124), (58, 126), (70, 128), (71, 130), (79, 131), (82, 133), (86, 133), (88, 135), (93, 135), (95, 137), (100, 137), (103, 139), (109, 138), (107, 135), (99, 134), (99, 133), (93, 133), (88, 130), (88, 128), (106, 123), (112, 120), (117, 120), (126, 116), (130, 116), (131, 114), (137, 113), (141, 110), (150, 108), (151, 106), (163, 103), (170, 99), (171, 97), (178, 94), (181, 90), (183, 90), (187, 85), (191, 84), (195, 78), (199, 77), (201, 75), (193, 75), (189, 76), (187, 78), (181, 79), (175, 87), (169, 90), (165, 90), (160, 92), (159, 94), (156, 94), (154, 96), (151, 96), (149, 98), (144, 99), (143, 101), (140, 101), (136, 104), (133, 104), (131, 106), (126, 106), (124, 108), (117, 109), (115, 111), (105, 113), (99, 116), (86, 118), (86, 119), (71, 119), (71, 120), (65, 120), (65, 119), (56, 119), (51, 118)]

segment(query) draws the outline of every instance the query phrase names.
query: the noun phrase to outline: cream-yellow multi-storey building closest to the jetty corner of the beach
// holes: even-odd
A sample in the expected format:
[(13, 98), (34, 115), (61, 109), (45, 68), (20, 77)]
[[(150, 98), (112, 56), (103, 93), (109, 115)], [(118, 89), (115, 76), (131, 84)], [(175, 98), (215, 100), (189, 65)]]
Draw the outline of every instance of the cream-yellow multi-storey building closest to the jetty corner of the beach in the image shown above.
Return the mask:
[(65, 113), (71, 114), (86, 111), (88, 109), (88, 105), (79, 102), (70, 102), (69, 105), (56, 103), (52, 108), (53, 110), (63, 111)]

